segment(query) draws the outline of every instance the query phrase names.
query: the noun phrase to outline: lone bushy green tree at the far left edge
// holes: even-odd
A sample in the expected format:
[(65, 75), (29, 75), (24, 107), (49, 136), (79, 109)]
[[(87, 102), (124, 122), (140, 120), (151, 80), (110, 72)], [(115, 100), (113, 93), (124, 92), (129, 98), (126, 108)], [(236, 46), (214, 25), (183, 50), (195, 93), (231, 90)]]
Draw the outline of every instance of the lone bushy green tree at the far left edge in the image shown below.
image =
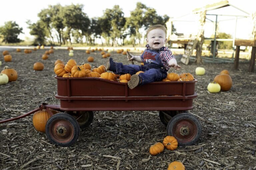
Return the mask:
[(5, 22), (5, 25), (0, 27), (0, 34), (3, 36), (3, 42), (5, 43), (15, 43), (21, 42), (18, 39), (19, 34), (23, 33), (22, 28), (16, 24), (15, 21)]

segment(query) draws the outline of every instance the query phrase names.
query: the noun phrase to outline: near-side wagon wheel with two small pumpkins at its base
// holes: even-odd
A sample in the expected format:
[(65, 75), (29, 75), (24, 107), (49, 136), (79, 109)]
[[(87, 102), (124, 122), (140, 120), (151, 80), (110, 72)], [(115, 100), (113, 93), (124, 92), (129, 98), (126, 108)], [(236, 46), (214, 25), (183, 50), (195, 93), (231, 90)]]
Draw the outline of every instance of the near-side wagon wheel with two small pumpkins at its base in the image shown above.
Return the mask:
[(193, 145), (199, 139), (201, 131), (198, 119), (188, 113), (174, 116), (167, 125), (167, 134), (174, 136), (180, 146)]

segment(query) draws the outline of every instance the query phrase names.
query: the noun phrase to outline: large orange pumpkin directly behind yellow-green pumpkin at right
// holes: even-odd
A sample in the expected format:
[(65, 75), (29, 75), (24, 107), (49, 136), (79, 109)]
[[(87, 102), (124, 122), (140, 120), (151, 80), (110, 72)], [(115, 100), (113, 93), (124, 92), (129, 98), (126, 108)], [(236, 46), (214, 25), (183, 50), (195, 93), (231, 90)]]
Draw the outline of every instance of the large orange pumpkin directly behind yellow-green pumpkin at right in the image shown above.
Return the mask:
[(219, 74), (214, 77), (216, 83), (220, 85), (220, 90), (228, 91), (232, 87), (232, 79), (228, 74)]

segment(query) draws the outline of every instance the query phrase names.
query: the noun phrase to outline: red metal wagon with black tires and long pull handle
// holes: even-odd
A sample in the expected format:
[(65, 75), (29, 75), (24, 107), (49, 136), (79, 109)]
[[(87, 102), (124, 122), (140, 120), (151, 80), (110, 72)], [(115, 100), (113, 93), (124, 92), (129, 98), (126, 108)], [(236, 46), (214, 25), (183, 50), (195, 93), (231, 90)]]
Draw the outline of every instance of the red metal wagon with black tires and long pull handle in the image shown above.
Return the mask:
[[(47, 138), (53, 144), (70, 146), (77, 140), (80, 128), (86, 128), (92, 123), (93, 111), (159, 111), (161, 122), (167, 126), (167, 134), (174, 136), (180, 146), (192, 145), (200, 137), (200, 122), (187, 113), (193, 108), (193, 98), (197, 97), (196, 79), (152, 82), (131, 90), (127, 83), (101, 78), (55, 78), (55, 97), (60, 99), (60, 105), (43, 103), (27, 114), (0, 123), (46, 109), (51, 115), (45, 129)], [(49, 109), (61, 113), (53, 115)]]

